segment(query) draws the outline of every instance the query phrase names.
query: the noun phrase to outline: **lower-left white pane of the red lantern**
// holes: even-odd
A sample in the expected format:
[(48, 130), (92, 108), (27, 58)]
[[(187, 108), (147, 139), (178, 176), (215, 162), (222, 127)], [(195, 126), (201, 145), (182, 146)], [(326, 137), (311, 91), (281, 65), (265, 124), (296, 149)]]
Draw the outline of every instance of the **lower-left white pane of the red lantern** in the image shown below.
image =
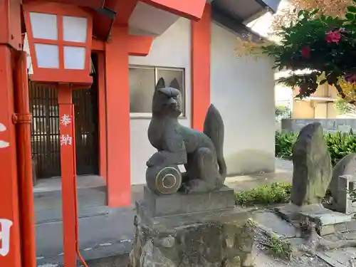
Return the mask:
[(58, 46), (35, 43), (38, 68), (59, 68)]

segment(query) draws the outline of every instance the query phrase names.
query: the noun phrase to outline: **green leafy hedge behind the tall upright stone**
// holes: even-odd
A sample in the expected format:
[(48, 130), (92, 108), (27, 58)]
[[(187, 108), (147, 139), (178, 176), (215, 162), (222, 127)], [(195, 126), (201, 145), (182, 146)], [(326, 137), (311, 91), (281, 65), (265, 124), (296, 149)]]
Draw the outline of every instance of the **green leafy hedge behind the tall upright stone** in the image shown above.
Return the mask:
[[(292, 156), (292, 147), (297, 137), (298, 133), (276, 132), (276, 157), (290, 159)], [(333, 165), (342, 159), (342, 157), (356, 153), (356, 135), (352, 131), (350, 133), (326, 133), (324, 138), (328, 145)]]

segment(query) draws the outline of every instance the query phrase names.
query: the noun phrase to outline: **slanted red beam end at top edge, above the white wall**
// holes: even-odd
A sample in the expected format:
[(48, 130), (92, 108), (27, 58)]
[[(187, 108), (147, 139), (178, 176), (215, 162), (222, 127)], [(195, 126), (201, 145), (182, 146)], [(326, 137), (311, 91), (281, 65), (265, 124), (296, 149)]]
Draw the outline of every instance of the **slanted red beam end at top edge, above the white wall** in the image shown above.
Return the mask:
[(163, 9), (178, 16), (193, 21), (199, 21), (203, 16), (206, 0), (141, 0), (146, 4)]

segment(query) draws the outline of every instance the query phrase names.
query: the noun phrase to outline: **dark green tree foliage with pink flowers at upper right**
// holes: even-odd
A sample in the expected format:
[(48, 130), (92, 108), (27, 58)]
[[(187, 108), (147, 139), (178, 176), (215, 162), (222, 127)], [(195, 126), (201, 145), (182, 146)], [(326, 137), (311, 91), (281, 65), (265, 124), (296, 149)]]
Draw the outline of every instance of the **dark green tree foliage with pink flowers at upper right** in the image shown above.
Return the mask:
[[(274, 58), (277, 70), (290, 70), (279, 82), (299, 88), (297, 97), (315, 93), (318, 85), (328, 83), (340, 97), (356, 101), (356, 0), (347, 6), (345, 16), (326, 16), (319, 10), (300, 10), (298, 19), (282, 26), (280, 43), (254, 43), (250, 53), (265, 53)], [(308, 69), (297, 74), (296, 70)]]

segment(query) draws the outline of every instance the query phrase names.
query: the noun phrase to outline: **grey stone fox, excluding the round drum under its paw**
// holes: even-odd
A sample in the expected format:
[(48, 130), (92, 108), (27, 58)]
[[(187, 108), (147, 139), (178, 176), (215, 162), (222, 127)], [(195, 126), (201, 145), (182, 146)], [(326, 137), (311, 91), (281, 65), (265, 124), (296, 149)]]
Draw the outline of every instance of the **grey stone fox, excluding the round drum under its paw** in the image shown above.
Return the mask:
[(210, 105), (204, 121), (204, 132), (179, 124), (181, 100), (179, 83), (169, 87), (160, 78), (152, 100), (152, 120), (148, 139), (157, 152), (147, 167), (184, 164), (181, 191), (209, 192), (218, 189), (226, 178), (224, 160), (224, 122), (214, 105)]

